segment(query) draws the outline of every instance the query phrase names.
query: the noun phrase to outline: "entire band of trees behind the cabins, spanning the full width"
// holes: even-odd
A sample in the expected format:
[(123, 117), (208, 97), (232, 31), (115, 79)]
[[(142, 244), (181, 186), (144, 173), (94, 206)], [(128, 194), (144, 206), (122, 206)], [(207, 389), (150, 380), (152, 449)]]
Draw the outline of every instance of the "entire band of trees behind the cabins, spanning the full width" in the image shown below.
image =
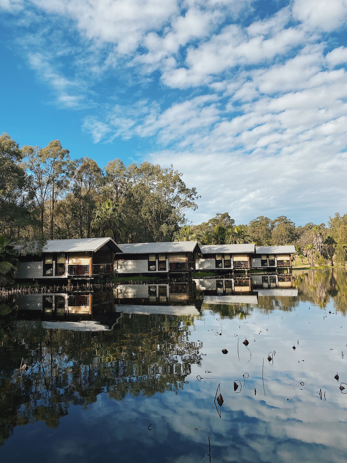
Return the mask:
[[(13, 242), (35, 243), (39, 250), (47, 239), (112, 237), (118, 243), (295, 244), (297, 255), (311, 264), (320, 258), (347, 261), (346, 214), (336, 213), (327, 227), (295, 226), (286, 216), (236, 225), (229, 213), (188, 225), (185, 213), (197, 209), (198, 197), (173, 166), (126, 166), (114, 159), (101, 169), (87, 156), (72, 160), (59, 140), (44, 148), (20, 148), (6, 133), (0, 136), (0, 235), (5, 240), (0, 251), (5, 254)], [(32, 246), (23, 249), (35, 252)], [(15, 257), (11, 262), (15, 267)]]

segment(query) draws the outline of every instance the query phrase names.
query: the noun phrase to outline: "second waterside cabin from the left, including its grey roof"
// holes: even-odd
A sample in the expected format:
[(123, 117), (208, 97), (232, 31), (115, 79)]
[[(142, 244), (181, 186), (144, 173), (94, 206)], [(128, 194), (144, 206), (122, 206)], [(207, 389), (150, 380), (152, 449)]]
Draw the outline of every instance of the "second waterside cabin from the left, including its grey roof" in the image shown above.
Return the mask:
[(189, 273), (195, 270), (197, 241), (119, 244), (122, 254), (115, 256), (118, 274)]

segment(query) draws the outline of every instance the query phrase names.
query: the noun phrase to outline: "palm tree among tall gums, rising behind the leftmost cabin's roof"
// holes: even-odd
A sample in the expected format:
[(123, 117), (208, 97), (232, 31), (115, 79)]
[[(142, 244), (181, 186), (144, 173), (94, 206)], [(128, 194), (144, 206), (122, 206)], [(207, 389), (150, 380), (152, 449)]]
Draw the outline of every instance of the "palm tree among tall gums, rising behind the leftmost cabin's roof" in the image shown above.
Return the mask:
[(100, 203), (97, 209), (93, 211), (92, 226), (97, 237), (110, 237), (119, 242), (121, 230), (119, 227), (120, 214), (117, 205), (112, 200), (106, 200)]

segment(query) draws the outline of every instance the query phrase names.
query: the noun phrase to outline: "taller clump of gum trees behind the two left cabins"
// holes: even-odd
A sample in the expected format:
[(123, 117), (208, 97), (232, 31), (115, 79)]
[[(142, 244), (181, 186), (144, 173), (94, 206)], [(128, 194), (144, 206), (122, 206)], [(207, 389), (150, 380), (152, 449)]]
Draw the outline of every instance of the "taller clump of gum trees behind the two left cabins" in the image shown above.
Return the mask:
[(0, 233), (10, 239), (171, 241), (197, 198), (172, 166), (114, 159), (101, 169), (72, 160), (59, 140), (19, 148), (0, 136)]

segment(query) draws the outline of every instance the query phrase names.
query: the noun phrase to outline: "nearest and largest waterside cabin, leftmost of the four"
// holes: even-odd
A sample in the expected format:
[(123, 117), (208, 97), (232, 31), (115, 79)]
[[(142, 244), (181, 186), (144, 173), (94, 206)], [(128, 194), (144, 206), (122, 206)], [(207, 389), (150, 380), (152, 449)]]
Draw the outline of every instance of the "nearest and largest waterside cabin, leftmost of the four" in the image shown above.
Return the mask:
[(20, 258), (18, 280), (92, 279), (113, 272), (114, 253), (122, 252), (112, 238), (47, 241), (41, 256)]

